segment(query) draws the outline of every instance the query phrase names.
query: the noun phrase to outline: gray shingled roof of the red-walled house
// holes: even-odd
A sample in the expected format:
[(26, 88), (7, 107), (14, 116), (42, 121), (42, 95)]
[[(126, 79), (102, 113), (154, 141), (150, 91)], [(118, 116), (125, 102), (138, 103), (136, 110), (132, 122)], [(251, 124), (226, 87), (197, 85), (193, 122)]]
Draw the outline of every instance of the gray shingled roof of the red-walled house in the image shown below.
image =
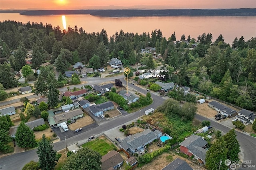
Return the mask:
[(206, 144), (208, 143), (201, 136), (191, 135), (179, 145), (188, 148), (194, 155), (205, 161), (206, 150), (203, 147)]

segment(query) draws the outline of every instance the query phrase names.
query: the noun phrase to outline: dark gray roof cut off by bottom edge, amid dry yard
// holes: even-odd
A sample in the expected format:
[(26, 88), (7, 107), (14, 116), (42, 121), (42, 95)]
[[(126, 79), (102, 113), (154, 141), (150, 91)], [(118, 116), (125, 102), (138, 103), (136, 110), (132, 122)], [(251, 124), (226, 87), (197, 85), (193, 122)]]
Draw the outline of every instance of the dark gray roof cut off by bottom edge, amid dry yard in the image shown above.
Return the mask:
[(176, 158), (162, 170), (193, 170), (193, 168), (191, 168), (185, 160)]

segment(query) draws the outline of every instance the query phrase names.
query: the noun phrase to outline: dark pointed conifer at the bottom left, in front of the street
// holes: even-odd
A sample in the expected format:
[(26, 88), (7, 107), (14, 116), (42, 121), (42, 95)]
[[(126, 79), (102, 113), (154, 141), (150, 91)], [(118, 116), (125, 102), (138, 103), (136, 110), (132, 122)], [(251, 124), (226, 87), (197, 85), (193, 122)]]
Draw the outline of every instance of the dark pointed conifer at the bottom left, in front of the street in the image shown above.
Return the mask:
[(45, 134), (38, 144), (36, 153), (38, 154), (39, 166), (42, 170), (53, 170), (58, 162), (57, 151), (53, 150), (50, 141), (46, 139)]

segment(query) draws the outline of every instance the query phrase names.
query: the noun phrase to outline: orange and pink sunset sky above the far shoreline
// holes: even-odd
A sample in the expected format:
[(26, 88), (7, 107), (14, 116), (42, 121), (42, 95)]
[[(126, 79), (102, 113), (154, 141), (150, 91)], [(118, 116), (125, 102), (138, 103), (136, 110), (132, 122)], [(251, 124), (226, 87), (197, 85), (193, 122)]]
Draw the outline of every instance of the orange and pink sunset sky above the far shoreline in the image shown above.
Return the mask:
[(256, 8), (256, 0), (1, 0), (2, 10)]

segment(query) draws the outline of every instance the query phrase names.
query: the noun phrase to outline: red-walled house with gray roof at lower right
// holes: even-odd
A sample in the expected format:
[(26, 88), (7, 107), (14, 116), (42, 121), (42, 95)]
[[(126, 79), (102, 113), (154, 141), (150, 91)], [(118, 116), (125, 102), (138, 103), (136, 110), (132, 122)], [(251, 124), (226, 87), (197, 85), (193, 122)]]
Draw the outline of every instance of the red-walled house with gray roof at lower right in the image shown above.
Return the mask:
[(198, 162), (205, 164), (206, 150), (204, 148), (206, 148), (207, 144), (208, 142), (206, 142), (203, 137), (191, 135), (179, 144), (180, 152), (188, 155), (189, 157), (194, 155), (194, 158), (197, 159)]

